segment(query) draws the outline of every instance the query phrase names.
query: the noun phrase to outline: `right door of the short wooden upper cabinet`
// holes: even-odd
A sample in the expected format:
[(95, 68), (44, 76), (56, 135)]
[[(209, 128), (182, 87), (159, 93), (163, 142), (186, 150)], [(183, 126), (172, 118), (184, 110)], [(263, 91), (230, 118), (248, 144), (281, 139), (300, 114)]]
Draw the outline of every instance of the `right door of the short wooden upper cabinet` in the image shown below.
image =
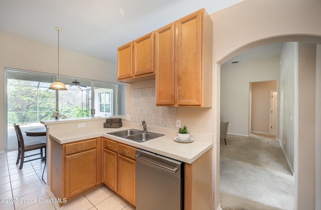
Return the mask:
[(133, 41), (134, 75), (154, 72), (154, 33), (148, 33)]

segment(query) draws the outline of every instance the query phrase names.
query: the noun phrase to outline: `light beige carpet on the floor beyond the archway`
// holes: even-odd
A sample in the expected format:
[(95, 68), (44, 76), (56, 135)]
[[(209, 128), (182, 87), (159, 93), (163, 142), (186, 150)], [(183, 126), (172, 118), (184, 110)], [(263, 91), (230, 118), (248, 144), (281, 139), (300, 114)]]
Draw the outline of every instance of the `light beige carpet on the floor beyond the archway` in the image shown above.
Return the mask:
[(221, 141), (222, 209), (293, 209), (294, 176), (278, 141), (227, 135)]

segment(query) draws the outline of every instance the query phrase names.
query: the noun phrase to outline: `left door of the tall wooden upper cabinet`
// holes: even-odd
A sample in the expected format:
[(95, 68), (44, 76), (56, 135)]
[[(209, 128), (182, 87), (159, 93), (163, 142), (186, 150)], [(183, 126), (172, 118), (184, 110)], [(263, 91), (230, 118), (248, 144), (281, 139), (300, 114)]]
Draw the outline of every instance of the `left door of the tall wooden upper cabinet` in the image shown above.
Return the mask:
[(156, 104), (175, 103), (175, 23), (155, 32)]

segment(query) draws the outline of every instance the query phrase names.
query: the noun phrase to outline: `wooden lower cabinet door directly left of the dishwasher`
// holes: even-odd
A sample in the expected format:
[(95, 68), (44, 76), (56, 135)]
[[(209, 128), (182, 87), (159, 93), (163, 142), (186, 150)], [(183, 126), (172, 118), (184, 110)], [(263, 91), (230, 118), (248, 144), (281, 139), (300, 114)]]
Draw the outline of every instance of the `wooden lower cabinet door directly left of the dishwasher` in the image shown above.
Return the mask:
[(118, 155), (118, 188), (117, 193), (132, 205), (136, 205), (136, 161)]

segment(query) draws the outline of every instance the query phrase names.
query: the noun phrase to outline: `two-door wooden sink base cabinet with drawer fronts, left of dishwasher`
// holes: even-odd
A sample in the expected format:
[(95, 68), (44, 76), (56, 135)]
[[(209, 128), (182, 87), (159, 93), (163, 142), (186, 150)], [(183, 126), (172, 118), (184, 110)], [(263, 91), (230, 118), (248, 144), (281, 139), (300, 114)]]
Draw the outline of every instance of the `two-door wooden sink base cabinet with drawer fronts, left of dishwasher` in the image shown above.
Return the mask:
[(136, 147), (103, 137), (103, 182), (136, 205)]

